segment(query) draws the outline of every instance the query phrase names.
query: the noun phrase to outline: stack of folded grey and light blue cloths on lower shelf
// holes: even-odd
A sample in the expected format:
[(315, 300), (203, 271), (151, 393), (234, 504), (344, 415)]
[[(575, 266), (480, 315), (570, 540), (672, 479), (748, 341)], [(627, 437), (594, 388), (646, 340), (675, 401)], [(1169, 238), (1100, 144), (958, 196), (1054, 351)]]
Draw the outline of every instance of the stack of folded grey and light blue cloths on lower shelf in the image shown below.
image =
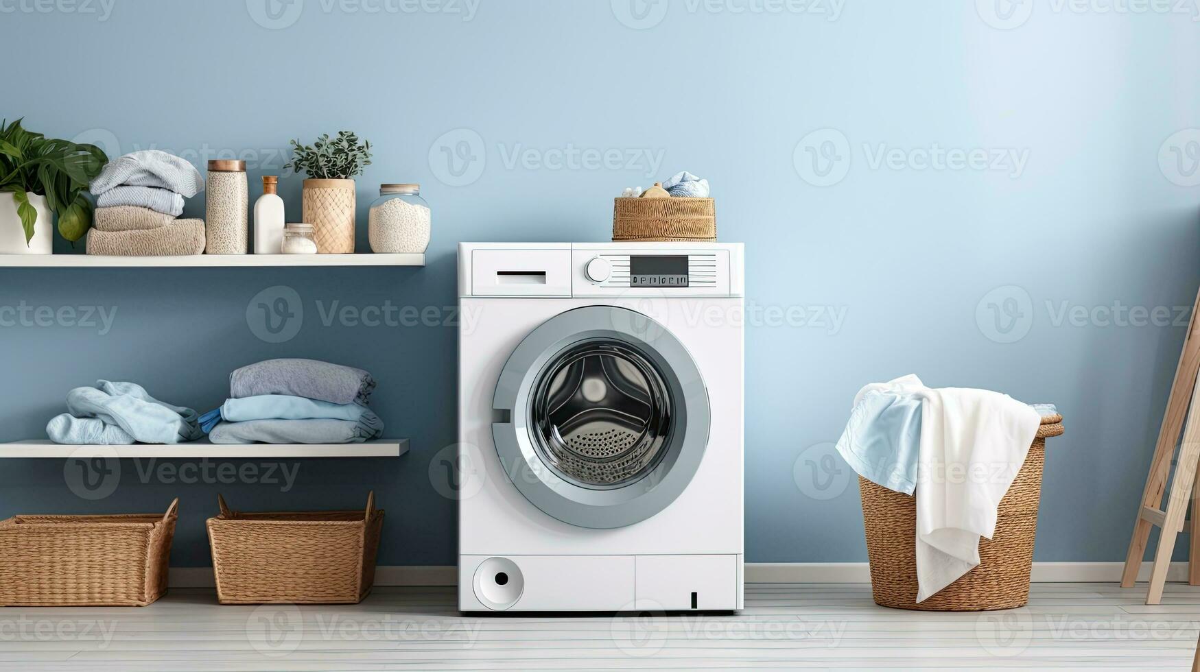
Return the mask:
[(272, 359), (229, 374), (221, 408), (200, 415), (209, 440), (361, 443), (383, 434), (367, 407), (374, 379), (361, 368), (311, 359)]

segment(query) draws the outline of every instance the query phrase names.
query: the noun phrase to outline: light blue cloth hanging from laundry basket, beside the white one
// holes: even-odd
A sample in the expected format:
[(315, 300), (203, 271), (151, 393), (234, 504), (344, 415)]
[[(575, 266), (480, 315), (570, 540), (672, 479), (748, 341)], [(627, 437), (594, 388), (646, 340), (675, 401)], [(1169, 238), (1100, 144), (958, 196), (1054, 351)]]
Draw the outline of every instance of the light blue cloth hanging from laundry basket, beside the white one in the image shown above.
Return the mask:
[[(920, 458), (922, 400), (910, 390), (880, 388), (864, 391), (850, 412), (838, 452), (864, 479), (912, 494)], [(1058, 413), (1052, 403), (1030, 407), (1043, 418)]]

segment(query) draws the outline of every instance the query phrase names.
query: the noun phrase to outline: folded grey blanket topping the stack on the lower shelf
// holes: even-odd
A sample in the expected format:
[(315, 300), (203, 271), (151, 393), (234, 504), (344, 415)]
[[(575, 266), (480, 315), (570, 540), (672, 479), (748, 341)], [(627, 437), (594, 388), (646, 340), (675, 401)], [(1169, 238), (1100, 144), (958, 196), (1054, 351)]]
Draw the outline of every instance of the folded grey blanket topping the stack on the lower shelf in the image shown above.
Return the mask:
[(314, 359), (270, 359), (229, 374), (229, 396), (293, 395), (329, 403), (367, 403), (374, 378), (361, 368)]

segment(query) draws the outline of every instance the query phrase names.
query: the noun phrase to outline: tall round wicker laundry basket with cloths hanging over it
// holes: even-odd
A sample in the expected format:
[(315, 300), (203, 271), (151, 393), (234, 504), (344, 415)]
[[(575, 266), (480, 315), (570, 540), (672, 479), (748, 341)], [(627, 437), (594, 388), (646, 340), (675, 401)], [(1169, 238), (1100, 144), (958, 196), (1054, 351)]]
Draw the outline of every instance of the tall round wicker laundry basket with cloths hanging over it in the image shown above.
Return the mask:
[(917, 502), (858, 479), (871, 563), (871, 595), (886, 607), (924, 611), (986, 611), (1030, 601), (1033, 538), (1042, 497), (1046, 437), (1062, 434), (1062, 415), (1042, 418), (1025, 463), (1000, 500), (996, 533), (979, 540), (979, 565), (928, 600), (917, 602)]

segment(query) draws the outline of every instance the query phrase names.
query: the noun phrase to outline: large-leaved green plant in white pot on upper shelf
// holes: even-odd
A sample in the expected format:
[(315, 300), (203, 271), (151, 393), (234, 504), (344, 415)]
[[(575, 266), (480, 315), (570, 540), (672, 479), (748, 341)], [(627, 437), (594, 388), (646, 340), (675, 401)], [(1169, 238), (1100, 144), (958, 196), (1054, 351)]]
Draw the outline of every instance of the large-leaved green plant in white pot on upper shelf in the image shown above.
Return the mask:
[(0, 121), (0, 254), (50, 254), (53, 216), (74, 242), (91, 227), (88, 185), (108, 156), (96, 145), (49, 139)]

